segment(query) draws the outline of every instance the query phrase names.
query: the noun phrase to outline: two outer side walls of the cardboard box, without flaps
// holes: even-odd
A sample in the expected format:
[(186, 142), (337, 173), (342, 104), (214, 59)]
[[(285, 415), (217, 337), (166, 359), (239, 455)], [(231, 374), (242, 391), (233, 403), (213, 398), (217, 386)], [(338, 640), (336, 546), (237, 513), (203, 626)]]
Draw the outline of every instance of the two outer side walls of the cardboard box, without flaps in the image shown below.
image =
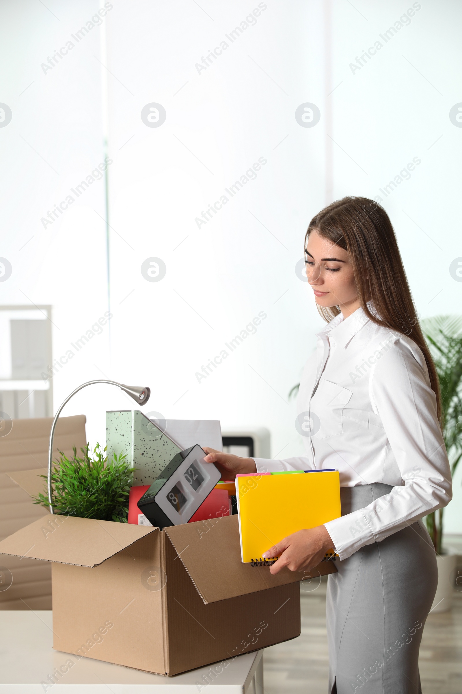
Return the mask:
[(53, 564), (53, 632), (56, 650), (176, 675), (299, 636), (299, 586), (206, 605), (155, 530), (95, 568)]

